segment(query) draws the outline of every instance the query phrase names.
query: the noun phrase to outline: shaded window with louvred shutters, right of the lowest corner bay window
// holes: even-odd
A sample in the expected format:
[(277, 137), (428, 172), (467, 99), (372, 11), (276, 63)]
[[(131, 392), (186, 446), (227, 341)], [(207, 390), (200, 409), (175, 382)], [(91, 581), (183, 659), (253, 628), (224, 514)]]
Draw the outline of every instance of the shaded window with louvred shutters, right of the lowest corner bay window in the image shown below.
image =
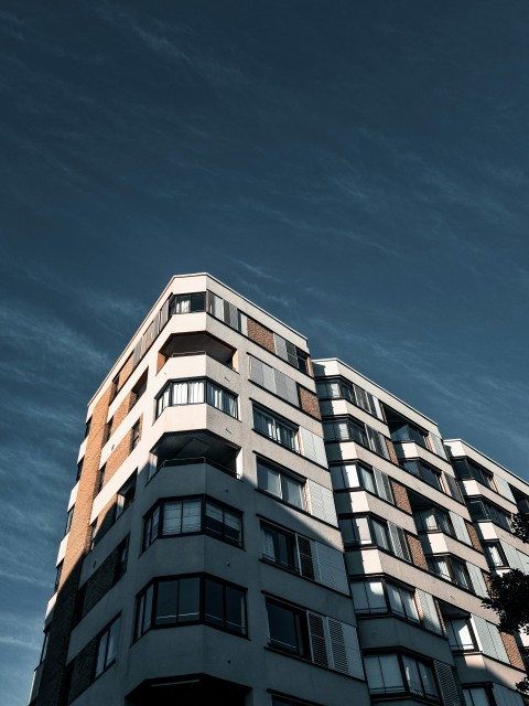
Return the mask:
[(267, 598), (267, 613), (272, 648), (364, 678), (356, 628), (273, 598)]

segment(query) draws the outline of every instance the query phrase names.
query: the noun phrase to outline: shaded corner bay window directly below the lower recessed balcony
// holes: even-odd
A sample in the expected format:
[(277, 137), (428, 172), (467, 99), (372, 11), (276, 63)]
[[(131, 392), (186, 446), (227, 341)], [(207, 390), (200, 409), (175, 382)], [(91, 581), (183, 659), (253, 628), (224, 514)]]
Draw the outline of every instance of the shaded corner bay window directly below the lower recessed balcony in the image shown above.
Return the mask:
[(162, 501), (143, 521), (143, 549), (159, 537), (204, 533), (242, 546), (242, 513), (209, 498)]

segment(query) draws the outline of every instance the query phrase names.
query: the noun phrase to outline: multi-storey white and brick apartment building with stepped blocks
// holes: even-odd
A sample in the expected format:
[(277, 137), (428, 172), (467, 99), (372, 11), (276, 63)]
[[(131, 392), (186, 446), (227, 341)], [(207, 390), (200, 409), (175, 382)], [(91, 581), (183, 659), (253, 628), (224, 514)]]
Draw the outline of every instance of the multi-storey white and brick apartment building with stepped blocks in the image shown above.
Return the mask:
[[(521, 706), (529, 486), (209, 275), (88, 404), (32, 706)], [(520, 652), (521, 649), (521, 652)]]

